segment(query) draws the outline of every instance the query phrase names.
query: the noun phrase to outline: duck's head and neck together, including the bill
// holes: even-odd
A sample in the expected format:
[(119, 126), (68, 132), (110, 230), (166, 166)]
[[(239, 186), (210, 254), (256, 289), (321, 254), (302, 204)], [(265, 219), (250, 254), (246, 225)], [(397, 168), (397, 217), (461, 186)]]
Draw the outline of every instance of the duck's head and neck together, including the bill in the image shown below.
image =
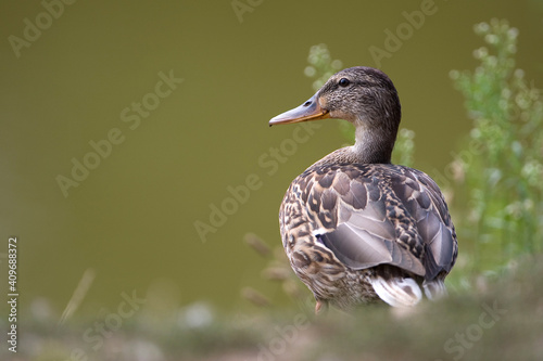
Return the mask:
[(345, 119), (356, 128), (349, 160), (390, 163), (401, 117), (397, 92), (389, 77), (371, 67), (355, 66), (332, 75), (310, 100), (274, 117), (269, 125)]

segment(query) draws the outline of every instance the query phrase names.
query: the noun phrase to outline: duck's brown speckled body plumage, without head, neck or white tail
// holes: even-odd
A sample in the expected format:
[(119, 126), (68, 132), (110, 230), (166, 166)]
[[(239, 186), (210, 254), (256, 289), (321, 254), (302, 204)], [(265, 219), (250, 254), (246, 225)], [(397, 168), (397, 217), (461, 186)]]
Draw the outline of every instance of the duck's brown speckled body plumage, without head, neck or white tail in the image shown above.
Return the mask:
[[(432, 281), (449, 273), (458, 249), (446, 204), (433, 180), (390, 164), (308, 168), (287, 191), (279, 221), (296, 274), (316, 291), (317, 299), (340, 306), (357, 302), (336, 296), (348, 273), (364, 283), (365, 276), (379, 270), (371, 268), (391, 265)], [(357, 272), (368, 269), (372, 272)], [(319, 281), (324, 270), (333, 270), (337, 278), (330, 278), (330, 287)], [(361, 281), (355, 283), (346, 285), (359, 288)], [(359, 300), (364, 298), (375, 295)]]

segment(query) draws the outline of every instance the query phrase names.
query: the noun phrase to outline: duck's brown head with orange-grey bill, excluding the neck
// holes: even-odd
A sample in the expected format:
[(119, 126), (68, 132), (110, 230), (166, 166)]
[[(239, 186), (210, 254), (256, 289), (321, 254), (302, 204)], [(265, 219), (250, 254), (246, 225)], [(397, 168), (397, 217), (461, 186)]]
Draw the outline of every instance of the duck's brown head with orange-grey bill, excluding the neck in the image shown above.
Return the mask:
[(340, 118), (356, 128), (397, 132), (401, 106), (396, 89), (381, 70), (355, 66), (336, 73), (315, 95), (302, 105), (282, 113), (270, 126)]

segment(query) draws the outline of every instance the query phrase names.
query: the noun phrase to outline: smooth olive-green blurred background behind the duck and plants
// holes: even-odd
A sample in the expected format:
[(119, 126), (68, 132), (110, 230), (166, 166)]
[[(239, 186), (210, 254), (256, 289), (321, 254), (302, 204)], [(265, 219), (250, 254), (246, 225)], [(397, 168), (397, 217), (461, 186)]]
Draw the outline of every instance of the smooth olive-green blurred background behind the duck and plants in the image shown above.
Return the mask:
[[(243, 236), (279, 245), (289, 183), (345, 140), (336, 121), (324, 121), (269, 176), (258, 157), (293, 128), (267, 121), (313, 94), (303, 74), (311, 46), (328, 44), (344, 67), (377, 66), (369, 48), (384, 49), (383, 31), (394, 33), (402, 12), (421, 1), (252, 3), (239, 17), (230, 0), (76, 1), (17, 57), (9, 37), (23, 38), (24, 20), (35, 24), (45, 8), (1, 2), (0, 253), (18, 236), (21, 309), (40, 299), (62, 312), (89, 268), (96, 279), (76, 317), (114, 308), (132, 289), (228, 310), (252, 285), (281, 302)], [(475, 67), (471, 51), (482, 43), (473, 24), (507, 18), (520, 33), (518, 67), (535, 86), (543, 80), (541, 1), (438, 0), (434, 8), (380, 64), (400, 92), (402, 125), (416, 131), (416, 166), (427, 172), (452, 160), (470, 128), (449, 72)], [(131, 130), (121, 112), (171, 70), (182, 83)], [(83, 162), (89, 142), (113, 128), (124, 142), (65, 197), (56, 177), (71, 177), (72, 158)], [(203, 243), (194, 222), (209, 223), (210, 206), (251, 173), (262, 186)]]

